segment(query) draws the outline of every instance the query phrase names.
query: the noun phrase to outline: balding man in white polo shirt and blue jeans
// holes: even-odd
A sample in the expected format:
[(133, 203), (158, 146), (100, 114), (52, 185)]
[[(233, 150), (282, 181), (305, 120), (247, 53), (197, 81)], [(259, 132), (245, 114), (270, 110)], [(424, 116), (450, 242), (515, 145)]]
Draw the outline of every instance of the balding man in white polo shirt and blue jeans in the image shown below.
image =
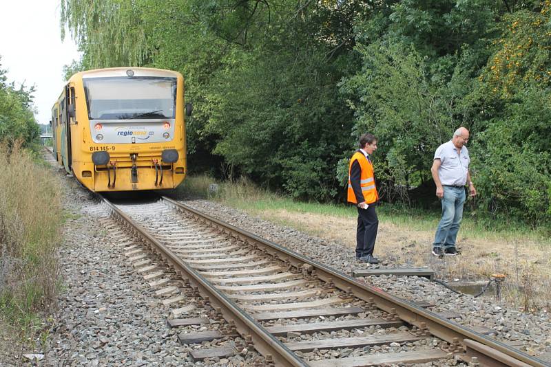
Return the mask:
[(433, 255), (457, 255), (455, 240), (459, 223), (463, 218), (465, 186), (468, 184), (470, 196), (477, 194), (469, 173), (469, 152), (465, 146), (469, 141), (469, 131), (460, 127), (453, 138), (438, 147), (430, 172), (436, 183), (436, 196), (441, 199), (442, 218), (436, 230)]

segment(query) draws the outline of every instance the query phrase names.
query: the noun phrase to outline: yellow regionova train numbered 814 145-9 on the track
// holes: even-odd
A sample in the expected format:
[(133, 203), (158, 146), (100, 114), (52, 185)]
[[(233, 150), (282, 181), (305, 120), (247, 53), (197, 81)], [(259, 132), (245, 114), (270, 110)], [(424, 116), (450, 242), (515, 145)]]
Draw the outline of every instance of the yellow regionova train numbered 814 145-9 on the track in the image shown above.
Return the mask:
[(82, 71), (52, 107), (54, 155), (92, 191), (176, 188), (186, 175), (185, 115), (176, 71)]

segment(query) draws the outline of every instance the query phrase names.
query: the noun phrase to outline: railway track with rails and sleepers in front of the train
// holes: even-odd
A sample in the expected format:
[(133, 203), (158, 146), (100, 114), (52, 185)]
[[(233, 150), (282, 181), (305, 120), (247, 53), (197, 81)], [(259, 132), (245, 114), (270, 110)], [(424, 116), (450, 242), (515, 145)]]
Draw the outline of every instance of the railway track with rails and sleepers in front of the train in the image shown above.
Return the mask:
[[(139, 205), (102, 200), (149, 247), (127, 247), (127, 256), (164, 297), (163, 304), (177, 305), (168, 323), (182, 329), (180, 342), (233, 338), (196, 348), (191, 353), (196, 359), (255, 349), (264, 357), (258, 366), (447, 364), (458, 359), (472, 366), (549, 366), (167, 197)], [(197, 307), (209, 309), (220, 323), (213, 327), (209, 318), (184, 317)]]

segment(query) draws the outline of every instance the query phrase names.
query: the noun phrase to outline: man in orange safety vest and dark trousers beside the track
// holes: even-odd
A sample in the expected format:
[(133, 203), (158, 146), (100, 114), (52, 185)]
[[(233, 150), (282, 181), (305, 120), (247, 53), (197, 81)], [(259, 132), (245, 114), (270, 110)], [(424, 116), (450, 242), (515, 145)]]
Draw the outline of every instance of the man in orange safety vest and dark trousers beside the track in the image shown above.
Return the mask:
[(373, 257), (379, 219), (375, 205), (379, 194), (375, 187), (373, 164), (370, 155), (377, 150), (377, 138), (366, 133), (360, 136), (359, 148), (349, 164), (348, 201), (357, 206), (356, 260), (362, 263), (378, 264)]

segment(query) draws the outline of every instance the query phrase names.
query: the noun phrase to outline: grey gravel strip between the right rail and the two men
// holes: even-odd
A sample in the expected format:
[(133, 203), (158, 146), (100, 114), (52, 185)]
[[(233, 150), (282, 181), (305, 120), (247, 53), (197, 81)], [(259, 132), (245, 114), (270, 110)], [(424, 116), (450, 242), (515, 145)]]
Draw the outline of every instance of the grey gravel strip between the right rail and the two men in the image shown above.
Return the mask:
[[(219, 203), (206, 200), (182, 202), (216, 219), (309, 256), (344, 274), (351, 276), (352, 269), (368, 267), (368, 265), (356, 263), (353, 249), (344, 245), (329, 243), (322, 238), (275, 225)], [(386, 267), (397, 267), (397, 265), (389, 263)], [(512, 344), (521, 351), (551, 362), (551, 317), (545, 311), (521, 313), (491, 297), (473, 298), (469, 295), (457, 294), (426, 278), (371, 276), (359, 279), (394, 296), (434, 304), (431, 310), (437, 313), (453, 311), (460, 316), (453, 319), (455, 322), (465, 326), (484, 326), (491, 329), (488, 330), (488, 334), (497, 340)]]

